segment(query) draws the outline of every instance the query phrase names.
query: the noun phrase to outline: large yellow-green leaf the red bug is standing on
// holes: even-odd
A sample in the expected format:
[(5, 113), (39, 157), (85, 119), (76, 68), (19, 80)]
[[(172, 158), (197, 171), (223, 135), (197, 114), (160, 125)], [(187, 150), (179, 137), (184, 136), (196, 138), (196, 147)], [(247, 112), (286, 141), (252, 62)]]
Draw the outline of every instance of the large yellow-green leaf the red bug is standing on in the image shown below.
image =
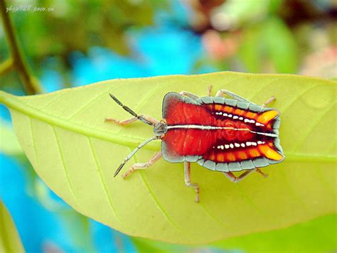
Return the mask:
[[(207, 86), (225, 88), (262, 104), (274, 95), (282, 112), (286, 160), (233, 184), (222, 173), (192, 165), (200, 204), (183, 182), (183, 164), (159, 161), (127, 180), (112, 175), (141, 141), (153, 135), (129, 118), (112, 92), (138, 113), (161, 119), (170, 91), (203, 96)], [(10, 107), (18, 140), (43, 181), (75, 210), (126, 234), (173, 243), (206, 243), (289, 227), (336, 212), (336, 82), (295, 75), (217, 72), (110, 80), (47, 95), (0, 93)], [(152, 142), (134, 162), (159, 150)], [(126, 171), (127, 168), (124, 168)]]

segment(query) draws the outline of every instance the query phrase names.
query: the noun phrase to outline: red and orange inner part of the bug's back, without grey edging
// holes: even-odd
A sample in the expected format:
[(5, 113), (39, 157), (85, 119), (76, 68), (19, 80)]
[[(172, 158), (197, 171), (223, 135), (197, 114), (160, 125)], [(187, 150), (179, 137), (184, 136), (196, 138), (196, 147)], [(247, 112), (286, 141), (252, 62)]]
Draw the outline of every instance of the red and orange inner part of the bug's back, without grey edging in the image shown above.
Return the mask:
[[(274, 139), (258, 135), (256, 132), (272, 133), (272, 122), (279, 115), (275, 110), (267, 112), (251, 112), (249, 109), (239, 109), (225, 104), (190, 104), (178, 97), (171, 97), (164, 104), (164, 119), (168, 126), (198, 125), (220, 126), (225, 129), (169, 129), (163, 138), (166, 151), (171, 157), (202, 156), (205, 160), (215, 163), (230, 163), (234, 161), (252, 160), (266, 157), (275, 161), (283, 156), (274, 147)], [(232, 117), (242, 117), (259, 122), (261, 126), (245, 123), (240, 119), (228, 119), (215, 112), (232, 114)], [(263, 126), (262, 126), (263, 124)], [(237, 131), (236, 129), (241, 129)], [(263, 144), (245, 146), (247, 141)], [(235, 149), (218, 149), (219, 145), (236, 144)], [(240, 146), (238, 146), (240, 144)], [(242, 145), (243, 144), (243, 145)]]

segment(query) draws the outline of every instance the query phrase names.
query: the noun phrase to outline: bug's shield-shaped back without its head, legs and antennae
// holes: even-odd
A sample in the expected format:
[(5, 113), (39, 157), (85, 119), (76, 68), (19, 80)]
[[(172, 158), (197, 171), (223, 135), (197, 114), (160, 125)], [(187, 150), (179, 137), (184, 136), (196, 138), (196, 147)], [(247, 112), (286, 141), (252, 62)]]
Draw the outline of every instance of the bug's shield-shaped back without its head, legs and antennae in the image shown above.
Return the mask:
[(277, 163), (284, 159), (275, 144), (279, 142), (278, 131), (273, 128), (279, 115), (276, 110), (258, 112), (257, 106), (256, 112), (252, 112), (228, 104), (188, 103), (179, 96), (172, 95), (168, 99), (172, 103), (165, 104), (164, 100), (168, 131), (162, 151), (166, 160), (198, 158), (205, 168), (215, 170), (218, 163), (235, 163), (233, 170), (240, 170), (254, 168), (255, 163), (267, 166), (269, 161)]

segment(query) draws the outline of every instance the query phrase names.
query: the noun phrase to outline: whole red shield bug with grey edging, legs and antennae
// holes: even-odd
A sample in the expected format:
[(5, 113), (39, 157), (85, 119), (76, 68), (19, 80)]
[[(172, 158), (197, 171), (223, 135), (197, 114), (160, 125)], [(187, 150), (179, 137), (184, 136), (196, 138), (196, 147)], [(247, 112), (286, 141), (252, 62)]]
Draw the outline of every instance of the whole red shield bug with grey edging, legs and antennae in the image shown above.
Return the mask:
[[(267, 176), (260, 171), (261, 167), (284, 160), (279, 144), (279, 111), (267, 107), (275, 98), (269, 98), (260, 106), (228, 90), (219, 90), (215, 97), (211, 97), (210, 90), (209, 87), (208, 97), (197, 97), (190, 92), (167, 93), (161, 121), (136, 114), (110, 94), (133, 117), (122, 121), (107, 118), (107, 122), (126, 125), (140, 120), (154, 127), (154, 136), (137, 146), (117, 168), (114, 176), (139, 149), (156, 139), (161, 139), (161, 151), (146, 163), (132, 165), (123, 178), (137, 169), (149, 168), (161, 157), (171, 163), (184, 163), (186, 186), (196, 190), (198, 202), (198, 183), (191, 183), (193, 162), (211, 171), (219, 171), (235, 183), (252, 171)], [(237, 177), (233, 171), (245, 172)]]

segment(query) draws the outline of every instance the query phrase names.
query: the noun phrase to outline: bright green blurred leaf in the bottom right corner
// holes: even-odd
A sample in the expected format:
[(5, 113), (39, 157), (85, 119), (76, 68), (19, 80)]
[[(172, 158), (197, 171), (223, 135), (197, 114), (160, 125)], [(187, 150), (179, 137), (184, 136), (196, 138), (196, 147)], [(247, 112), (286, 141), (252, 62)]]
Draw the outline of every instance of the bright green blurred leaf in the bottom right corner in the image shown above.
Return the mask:
[(282, 230), (260, 232), (210, 244), (249, 252), (332, 252), (336, 250), (337, 215), (326, 215)]

